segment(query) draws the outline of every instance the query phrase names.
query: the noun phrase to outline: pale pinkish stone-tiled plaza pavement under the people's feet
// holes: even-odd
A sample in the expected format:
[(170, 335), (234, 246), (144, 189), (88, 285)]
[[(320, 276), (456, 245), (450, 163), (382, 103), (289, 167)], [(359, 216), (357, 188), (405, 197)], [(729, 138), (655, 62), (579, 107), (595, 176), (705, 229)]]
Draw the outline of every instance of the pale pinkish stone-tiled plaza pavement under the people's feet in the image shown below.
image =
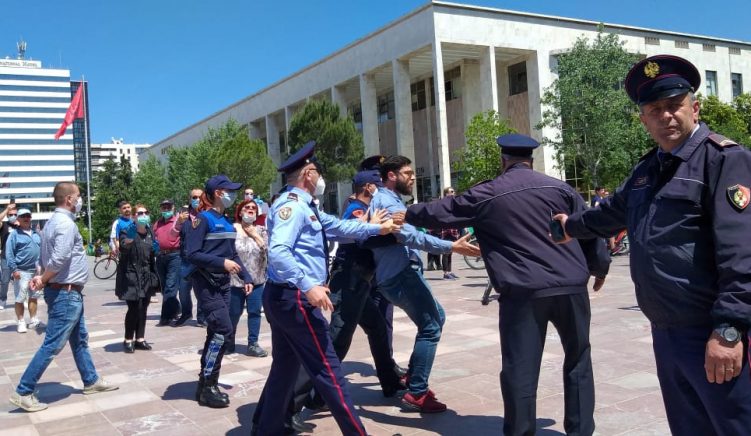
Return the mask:
[[(447, 321), (430, 385), (449, 410), (420, 416), (402, 412), (396, 398), (381, 395), (367, 341), (355, 336), (344, 363), (350, 393), (367, 430), (373, 435), (495, 435), (501, 433), (503, 406), (498, 382), (500, 346), (498, 307), (479, 302), (487, 277), (454, 259), (459, 280), (444, 281), (426, 272)], [(87, 286), (86, 323), (97, 369), (120, 389), (81, 394), (81, 380), (69, 347), (53, 361), (38, 387), (49, 409), (25, 413), (7, 402), (42, 331), (16, 333), (12, 308), (0, 312), (0, 435), (247, 435), (251, 417), (268, 374), (271, 358), (251, 358), (245, 351), (244, 318), (238, 329), (238, 354), (225, 357), (221, 385), (230, 395), (226, 409), (200, 407), (193, 401), (199, 350), (205, 331), (195, 321), (181, 328), (156, 327), (159, 304), (149, 307), (146, 338), (153, 351), (122, 351), (126, 311), (113, 292), (114, 278), (93, 278)], [(160, 296), (161, 297), (161, 296)], [(11, 297), (12, 298), (12, 297)], [(651, 349), (649, 325), (636, 307), (628, 259), (617, 257), (604, 289), (591, 294), (592, 359), (596, 382), (595, 421), (600, 435), (669, 434)], [(46, 320), (41, 305), (40, 318)], [(415, 328), (397, 309), (394, 319), (395, 359), (407, 365)], [(268, 324), (260, 343), (270, 348)], [(563, 353), (550, 326), (538, 389), (538, 434), (563, 434)], [(281, 411), (280, 411), (281, 412)], [(306, 412), (304, 412), (306, 413)], [(339, 431), (328, 412), (310, 416), (314, 434)]]

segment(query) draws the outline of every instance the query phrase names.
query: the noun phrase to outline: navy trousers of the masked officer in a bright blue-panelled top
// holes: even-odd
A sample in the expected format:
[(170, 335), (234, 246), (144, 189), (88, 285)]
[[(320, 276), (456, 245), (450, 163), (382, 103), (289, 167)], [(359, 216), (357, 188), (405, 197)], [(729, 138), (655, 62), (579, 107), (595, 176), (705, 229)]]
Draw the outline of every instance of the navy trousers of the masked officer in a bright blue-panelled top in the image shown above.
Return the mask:
[(219, 285), (212, 287), (201, 274), (193, 274), (193, 288), (206, 313), (206, 342), (201, 353), (203, 376), (219, 375), (224, 352), (235, 342), (229, 318), (229, 275)]

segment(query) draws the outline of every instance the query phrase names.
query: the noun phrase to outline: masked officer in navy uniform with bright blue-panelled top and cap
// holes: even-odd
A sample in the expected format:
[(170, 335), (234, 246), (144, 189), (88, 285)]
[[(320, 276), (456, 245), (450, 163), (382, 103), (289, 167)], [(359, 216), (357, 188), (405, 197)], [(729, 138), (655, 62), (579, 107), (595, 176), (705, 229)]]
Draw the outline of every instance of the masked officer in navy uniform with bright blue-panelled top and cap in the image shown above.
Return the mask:
[(225, 349), (234, 343), (229, 317), (230, 274), (243, 280), (246, 294), (253, 290), (253, 280), (235, 251), (235, 228), (224, 216), (241, 187), (224, 174), (210, 178), (204, 195), (213, 206), (196, 216), (185, 241), (186, 257), (194, 267), (189, 275), (208, 323), (196, 400), (215, 408), (229, 406), (229, 397), (219, 391), (217, 382)]

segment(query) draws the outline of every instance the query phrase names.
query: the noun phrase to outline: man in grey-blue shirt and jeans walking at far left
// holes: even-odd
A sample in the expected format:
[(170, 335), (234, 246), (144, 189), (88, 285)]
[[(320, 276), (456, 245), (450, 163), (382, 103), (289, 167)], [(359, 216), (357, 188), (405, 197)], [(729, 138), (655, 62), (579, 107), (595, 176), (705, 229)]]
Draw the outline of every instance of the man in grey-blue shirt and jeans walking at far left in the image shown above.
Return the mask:
[(117, 389), (100, 377), (89, 352), (89, 332), (83, 318), (83, 290), (89, 278), (88, 261), (83, 251), (83, 238), (75, 222), (83, 201), (74, 182), (59, 182), (52, 191), (55, 212), (42, 232), (39, 264), (42, 275), (31, 280), (32, 290), (44, 288), (47, 303), (47, 329), (44, 343), (34, 354), (11, 394), (10, 402), (27, 412), (47, 408), (34, 394), (52, 359), (70, 342), (73, 360), (83, 381), (84, 394)]

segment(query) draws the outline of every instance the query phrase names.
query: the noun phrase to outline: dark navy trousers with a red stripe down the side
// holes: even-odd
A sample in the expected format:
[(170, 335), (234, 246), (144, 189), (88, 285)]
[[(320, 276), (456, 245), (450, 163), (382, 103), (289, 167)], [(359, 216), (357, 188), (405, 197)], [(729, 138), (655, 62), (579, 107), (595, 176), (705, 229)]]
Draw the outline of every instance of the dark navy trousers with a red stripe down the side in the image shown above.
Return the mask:
[(311, 306), (297, 289), (267, 283), (263, 308), (271, 326), (272, 363), (259, 399), (258, 434), (281, 435), (285, 410), (292, 398), (296, 375), (302, 365), (315, 389), (328, 404), (344, 435), (365, 435), (347, 392), (341, 364), (329, 336), (329, 326), (320, 309)]

